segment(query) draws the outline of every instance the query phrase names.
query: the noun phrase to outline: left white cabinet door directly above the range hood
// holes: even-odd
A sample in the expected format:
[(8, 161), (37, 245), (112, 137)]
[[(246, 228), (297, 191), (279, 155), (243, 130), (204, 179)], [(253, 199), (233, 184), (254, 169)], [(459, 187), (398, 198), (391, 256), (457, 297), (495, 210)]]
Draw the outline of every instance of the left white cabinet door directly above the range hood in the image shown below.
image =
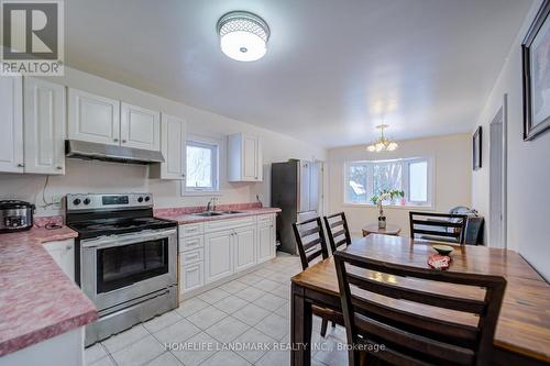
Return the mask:
[(68, 138), (119, 145), (120, 102), (69, 88)]

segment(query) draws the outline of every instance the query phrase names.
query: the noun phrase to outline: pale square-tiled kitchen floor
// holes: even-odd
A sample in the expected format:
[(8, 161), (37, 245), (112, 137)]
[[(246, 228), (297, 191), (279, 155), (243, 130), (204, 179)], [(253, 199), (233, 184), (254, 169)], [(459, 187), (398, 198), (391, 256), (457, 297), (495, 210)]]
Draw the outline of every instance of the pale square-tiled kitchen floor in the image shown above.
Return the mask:
[[(290, 342), (290, 280), (301, 271), (298, 257), (278, 255), (261, 269), (180, 303), (179, 308), (111, 336), (86, 350), (88, 366), (285, 366)], [(314, 319), (314, 366), (348, 365), (345, 331), (337, 326), (320, 337)], [(193, 350), (165, 348), (164, 343)], [(233, 346), (232, 351), (222, 347)], [(239, 350), (243, 344), (267, 348)], [(223, 348), (223, 350), (220, 350)]]

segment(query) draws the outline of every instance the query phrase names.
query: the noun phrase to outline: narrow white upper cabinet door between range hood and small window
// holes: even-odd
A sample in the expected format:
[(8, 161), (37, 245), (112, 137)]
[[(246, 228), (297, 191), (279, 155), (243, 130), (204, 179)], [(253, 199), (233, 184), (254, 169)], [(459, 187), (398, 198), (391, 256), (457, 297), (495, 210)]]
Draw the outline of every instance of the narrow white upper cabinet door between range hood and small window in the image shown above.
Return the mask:
[(161, 152), (166, 160), (161, 165), (162, 179), (184, 179), (186, 165), (186, 123), (168, 114), (161, 119)]

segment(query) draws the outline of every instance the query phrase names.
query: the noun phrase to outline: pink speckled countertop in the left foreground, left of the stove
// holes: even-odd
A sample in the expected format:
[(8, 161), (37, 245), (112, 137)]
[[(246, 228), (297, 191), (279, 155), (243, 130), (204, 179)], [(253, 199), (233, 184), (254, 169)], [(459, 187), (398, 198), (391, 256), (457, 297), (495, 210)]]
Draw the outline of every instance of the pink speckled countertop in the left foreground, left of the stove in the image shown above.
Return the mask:
[(0, 234), (0, 356), (97, 319), (94, 303), (41, 245), (76, 236), (66, 226)]

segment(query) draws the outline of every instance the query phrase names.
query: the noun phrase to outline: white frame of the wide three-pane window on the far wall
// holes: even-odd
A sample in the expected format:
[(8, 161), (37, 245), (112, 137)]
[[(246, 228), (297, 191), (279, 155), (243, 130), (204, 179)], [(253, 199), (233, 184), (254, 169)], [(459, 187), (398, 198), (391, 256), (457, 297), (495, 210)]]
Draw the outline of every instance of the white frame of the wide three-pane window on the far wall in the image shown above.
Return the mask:
[[(380, 159), (380, 160), (346, 160), (343, 165), (343, 186), (342, 186), (342, 204), (349, 207), (375, 207), (373, 202), (369, 199), (373, 196), (373, 181), (369, 179), (373, 175), (373, 165), (374, 164), (384, 164), (384, 163), (400, 163), (402, 164), (402, 189), (405, 191), (405, 204), (384, 204), (384, 207), (395, 208), (395, 209), (410, 209), (410, 208), (420, 208), (420, 209), (433, 209), (436, 206), (436, 196), (433, 192), (435, 188), (435, 179), (436, 179), (436, 170), (435, 170), (435, 158), (431, 156), (421, 156), (421, 157), (405, 157), (405, 158), (395, 158), (395, 159)], [(410, 201), (410, 177), (409, 169), (410, 164), (427, 162), (428, 168), (428, 177), (427, 177), (427, 195), (428, 201)], [(349, 168), (352, 165), (366, 165), (367, 167), (367, 181), (366, 181), (366, 202), (351, 202), (348, 201), (348, 177), (349, 177)]]

